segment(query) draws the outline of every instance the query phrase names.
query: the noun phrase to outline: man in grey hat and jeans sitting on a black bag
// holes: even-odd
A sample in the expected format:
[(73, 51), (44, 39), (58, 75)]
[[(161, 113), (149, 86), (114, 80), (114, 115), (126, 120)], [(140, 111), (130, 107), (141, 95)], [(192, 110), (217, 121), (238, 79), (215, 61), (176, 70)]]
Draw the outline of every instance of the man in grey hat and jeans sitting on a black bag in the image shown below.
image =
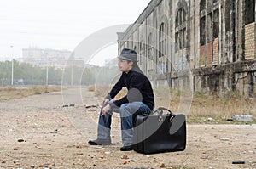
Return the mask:
[[(137, 53), (124, 48), (119, 56), (119, 70), (122, 74), (119, 81), (113, 86), (108, 96), (102, 100), (102, 110), (98, 122), (97, 139), (90, 140), (92, 145), (111, 144), (110, 130), (113, 112), (121, 117), (121, 133), (123, 147), (121, 151), (132, 150), (133, 118), (138, 114), (150, 114), (154, 109), (154, 93), (147, 78), (137, 66)], [(113, 98), (126, 87), (127, 95), (119, 100)]]

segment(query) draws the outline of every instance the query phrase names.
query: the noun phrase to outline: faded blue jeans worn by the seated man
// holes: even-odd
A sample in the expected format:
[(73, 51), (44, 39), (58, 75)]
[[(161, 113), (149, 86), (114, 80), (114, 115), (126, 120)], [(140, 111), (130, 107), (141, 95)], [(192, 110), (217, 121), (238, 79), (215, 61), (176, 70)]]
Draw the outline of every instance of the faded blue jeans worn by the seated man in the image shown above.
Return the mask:
[(143, 104), (143, 102), (132, 102), (127, 104), (122, 104), (118, 109), (109, 110), (105, 116), (102, 115), (102, 110), (101, 110), (99, 122), (98, 122), (97, 138), (111, 140), (110, 130), (111, 130), (111, 119), (112, 119), (113, 112), (120, 114), (123, 144), (132, 144), (133, 143), (132, 116), (150, 114), (152, 110), (150, 110), (148, 105)]

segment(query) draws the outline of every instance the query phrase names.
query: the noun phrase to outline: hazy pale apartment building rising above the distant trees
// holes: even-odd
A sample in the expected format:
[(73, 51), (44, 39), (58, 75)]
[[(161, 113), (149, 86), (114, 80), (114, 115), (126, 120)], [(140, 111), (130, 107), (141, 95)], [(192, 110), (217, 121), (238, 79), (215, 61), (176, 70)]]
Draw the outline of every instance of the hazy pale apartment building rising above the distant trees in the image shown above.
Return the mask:
[(66, 65), (84, 67), (84, 60), (73, 58), (72, 52), (68, 50), (23, 48), (22, 57), (25, 63), (40, 67), (51, 66), (55, 69), (64, 69)]

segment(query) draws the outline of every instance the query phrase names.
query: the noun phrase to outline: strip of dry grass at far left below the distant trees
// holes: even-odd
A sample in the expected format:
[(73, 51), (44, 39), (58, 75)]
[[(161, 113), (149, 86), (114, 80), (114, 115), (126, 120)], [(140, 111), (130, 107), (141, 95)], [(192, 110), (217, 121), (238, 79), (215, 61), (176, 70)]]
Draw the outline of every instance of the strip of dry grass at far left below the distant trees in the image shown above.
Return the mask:
[(2, 87), (0, 88), (0, 101), (19, 99), (34, 94), (61, 91), (61, 87), (31, 86), (31, 87)]

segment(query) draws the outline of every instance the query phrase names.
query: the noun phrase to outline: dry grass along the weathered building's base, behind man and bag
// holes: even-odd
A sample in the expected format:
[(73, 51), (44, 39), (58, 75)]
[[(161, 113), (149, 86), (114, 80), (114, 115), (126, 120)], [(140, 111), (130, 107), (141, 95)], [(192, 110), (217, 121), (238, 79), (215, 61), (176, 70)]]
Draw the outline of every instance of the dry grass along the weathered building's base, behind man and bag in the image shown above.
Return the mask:
[[(97, 96), (104, 97), (111, 87), (95, 87)], [(124, 96), (126, 91), (122, 91), (115, 99)], [(155, 107), (168, 107), (172, 112), (177, 112), (181, 102), (187, 101), (181, 97), (182, 93), (178, 90), (168, 88), (155, 88)], [(190, 122), (214, 122), (227, 123), (232, 115), (253, 115), (256, 117), (256, 99), (244, 98), (236, 93), (226, 93), (223, 97), (218, 95), (206, 95), (203, 93), (193, 93), (192, 102), (187, 114)], [(181, 112), (182, 113), (182, 112)], [(207, 121), (212, 117), (214, 121)], [(253, 121), (255, 122), (255, 120)]]

